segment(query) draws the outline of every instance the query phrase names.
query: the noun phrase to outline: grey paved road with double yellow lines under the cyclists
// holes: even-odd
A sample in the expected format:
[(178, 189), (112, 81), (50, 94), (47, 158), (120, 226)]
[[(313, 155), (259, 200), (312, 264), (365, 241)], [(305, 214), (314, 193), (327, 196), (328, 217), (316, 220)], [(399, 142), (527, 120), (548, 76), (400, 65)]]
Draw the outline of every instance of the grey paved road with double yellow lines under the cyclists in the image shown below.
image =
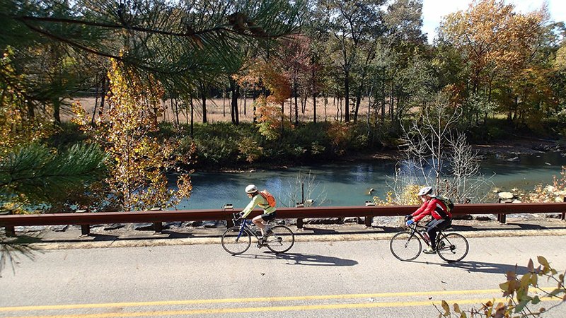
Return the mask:
[(279, 256), (219, 243), (50, 250), (2, 273), (0, 317), (437, 317), (440, 300), (498, 298), (506, 271), (537, 255), (566, 269), (565, 236), (469, 241), (459, 264), (398, 261), (387, 240), (297, 242)]

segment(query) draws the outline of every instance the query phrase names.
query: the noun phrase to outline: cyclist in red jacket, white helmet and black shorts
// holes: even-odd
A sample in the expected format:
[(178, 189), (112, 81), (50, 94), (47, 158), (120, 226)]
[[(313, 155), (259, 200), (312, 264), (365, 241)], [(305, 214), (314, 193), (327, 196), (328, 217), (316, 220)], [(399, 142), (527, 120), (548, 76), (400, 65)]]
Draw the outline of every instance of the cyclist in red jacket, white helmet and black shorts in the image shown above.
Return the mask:
[(452, 213), (448, 211), (444, 202), (437, 199), (432, 194), (432, 187), (424, 187), (420, 189), (420, 192), (417, 195), (420, 196), (420, 199), (422, 200), (422, 206), (417, 208), (417, 211), (412, 214), (405, 216), (405, 219), (407, 219), (407, 225), (411, 225), (412, 223), (418, 222), (425, 216), (430, 215), (432, 217), (426, 225), (427, 234), (430, 237), (430, 247), (424, 249), (422, 252), (434, 254), (437, 252), (437, 232), (439, 230), (449, 228), (452, 224)]

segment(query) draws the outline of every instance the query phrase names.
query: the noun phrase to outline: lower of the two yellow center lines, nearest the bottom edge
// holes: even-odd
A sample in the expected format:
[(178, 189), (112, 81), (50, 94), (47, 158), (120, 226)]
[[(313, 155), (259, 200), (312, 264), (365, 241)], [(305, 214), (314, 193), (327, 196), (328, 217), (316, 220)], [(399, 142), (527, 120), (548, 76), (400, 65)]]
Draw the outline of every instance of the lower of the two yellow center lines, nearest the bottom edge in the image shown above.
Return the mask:
[[(490, 299), (492, 300), (492, 299)], [(541, 301), (548, 301), (550, 298), (541, 298)], [(468, 305), (486, 302), (485, 299), (464, 299), (450, 300), (449, 303), (458, 305)], [(497, 298), (495, 302), (505, 302), (504, 298)], [(158, 316), (180, 316), (191, 314), (234, 314), (250, 312), (285, 312), (285, 311), (305, 311), (305, 310), (340, 310), (340, 309), (359, 309), (359, 308), (379, 308), (379, 307), (416, 307), (441, 305), (437, 301), (418, 301), (418, 302), (364, 302), (359, 304), (329, 304), (329, 305), (298, 305), (298, 306), (273, 306), (273, 307), (245, 307), (245, 308), (220, 308), (220, 309), (200, 309), (200, 310), (168, 310), (154, 312), (118, 312), (103, 314), (69, 314), (55, 316), (28, 316), (28, 317), (8, 317), (8, 318), (50, 318), (50, 317), (77, 317), (77, 318), (103, 318), (103, 317), (158, 317)]]

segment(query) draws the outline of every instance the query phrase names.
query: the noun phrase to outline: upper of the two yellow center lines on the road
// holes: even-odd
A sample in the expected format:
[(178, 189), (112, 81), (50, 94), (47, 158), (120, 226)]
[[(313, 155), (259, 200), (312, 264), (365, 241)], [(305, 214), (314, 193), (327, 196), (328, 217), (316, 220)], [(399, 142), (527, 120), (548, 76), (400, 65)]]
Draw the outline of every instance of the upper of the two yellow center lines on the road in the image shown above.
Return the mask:
[(171, 306), (171, 305), (201, 305), (218, 304), (224, 302), (284, 302), (297, 300), (333, 300), (354, 298), (381, 298), (381, 297), (406, 297), (406, 296), (430, 296), (430, 295), (464, 295), (464, 294), (486, 294), (498, 293), (499, 289), (485, 290), (439, 290), (428, 292), (403, 292), (403, 293), (369, 293), (369, 294), (347, 294), (347, 295), (306, 295), (306, 296), (282, 296), (262, 298), (224, 298), (203, 300), (163, 300), (154, 302), (108, 302), (98, 304), (71, 304), (71, 305), (41, 305), (41, 306), (18, 306), (0, 307), (0, 312), (15, 312), (23, 310), (64, 310), (81, 308), (106, 308), (106, 307), (142, 307), (142, 306)]

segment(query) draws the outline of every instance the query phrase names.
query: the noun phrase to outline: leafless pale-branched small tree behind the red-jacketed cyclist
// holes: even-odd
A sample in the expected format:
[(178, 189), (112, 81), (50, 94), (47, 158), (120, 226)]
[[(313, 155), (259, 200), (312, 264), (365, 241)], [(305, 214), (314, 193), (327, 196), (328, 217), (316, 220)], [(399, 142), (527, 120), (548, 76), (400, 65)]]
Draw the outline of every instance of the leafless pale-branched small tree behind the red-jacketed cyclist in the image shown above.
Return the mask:
[(389, 184), (396, 198), (403, 200), (412, 186), (428, 184), (457, 202), (485, 199), (481, 192), (490, 186), (490, 178), (480, 173), (478, 152), (464, 134), (453, 134), (460, 117), (461, 108), (441, 93), (403, 127), (405, 159)]

